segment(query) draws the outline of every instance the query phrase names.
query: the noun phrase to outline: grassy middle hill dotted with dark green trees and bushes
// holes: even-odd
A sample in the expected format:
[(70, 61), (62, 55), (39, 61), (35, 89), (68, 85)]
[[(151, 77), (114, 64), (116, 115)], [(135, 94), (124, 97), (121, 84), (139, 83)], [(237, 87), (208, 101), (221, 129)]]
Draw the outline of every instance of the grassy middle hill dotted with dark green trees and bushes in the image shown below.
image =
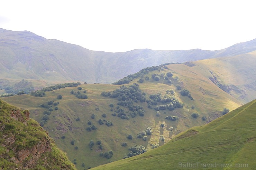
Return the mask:
[[(154, 145), (161, 146), (180, 132), (194, 126), (206, 124), (222, 116), (223, 108), (234, 110), (241, 106), (243, 101), (235, 99), (216, 86), (209, 79), (209, 77), (212, 77), (211, 70), (199, 63), (189, 62), (185, 64), (169, 64), (158, 68), (152, 67), (156, 68), (155, 70), (147, 68), (143, 72), (135, 74), (129, 84), (124, 84), (125, 87), (128, 87), (127, 89), (130, 89), (130, 86), (136, 88), (137, 86), (132, 84), (137, 83), (138, 88), (141, 90), (141, 93), (136, 92), (137, 96), (146, 94), (146, 101), (153, 102), (155, 99), (150, 99), (150, 95), (161, 93), (162, 99), (165, 96), (175, 97), (177, 101), (183, 103), (182, 108), (159, 110), (161, 114), (158, 117), (156, 116), (157, 110), (154, 108), (159, 107), (159, 105), (167, 106), (168, 103), (157, 101), (157, 104), (152, 104), (152, 108), (148, 108), (149, 104), (146, 101), (140, 102), (139, 100), (136, 102), (135, 99), (132, 99), (133, 105), (142, 106), (145, 112), (144, 116), (139, 116), (138, 110), (137, 116), (133, 118), (132, 113), (134, 111), (129, 110), (127, 106), (121, 106), (121, 104), (119, 104), (119, 107), (124, 109), (124, 113), (129, 119), (121, 119), (118, 115), (112, 116), (115, 112), (118, 114), (117, 103), (119, 102), (119, 97), (104, 97), (101, 93), (106, 91), (113, 94), (113, 91), (123, 86), (115, 84), (82, 84), (79, 87), (66, 87), (45, 92), (46, 95), (44, 97), (21, 94), (2, 99), (22, 109), (29, 109), (31, 117), (44, 126), (44, 129), (49, 132), (57, 146), (67, 153), (71, 161), (77, 163), (77, 169), (82, 170), (122, 159), (128, 154), (128, 148), (134, 146), (134, 144), (143, 145), (147, 150), (151, 150)], [(218, 72), (221, 73), (222, 71), (226, 70), (223, 69)], [(165, 79), (170, 72), (173, 76), (168, 79), (172, 83)], [(152, 74), (159, 75), (159, 80), (156, 81), (152, 78)], [(145, 80), (146, 77), (149, 80)], [(140, 79), (143, 79), (144, 82), (139, 82)], [(178, 85), (181, 90), (176, 88)], [(79, 90), (77, 88), (82, 89)], [(188, 96), (181, 95), (181, 91), (185, 89), (189, 90), (193, 100)], [(86, 94), (88, 99), (77, 98), (71, 93), (72, 90), (74, 94), (77, 91), (81, 94)], [(84, 90), (86, 90), (85, 93)], [(167, 90), (173, 90), (174, 94), (166, 94)], [(57, 99), (58, 95), (61, 95), (62, 99)], [(130, 96), (130, 94), (127, 95)], [(50, 101), (53, 102), (48, 104)], [(110, 107), (111, 103), (113, 107)], [(42, 104), (47, 108), (42, 107)], [(57, 107), (57, 110), (55, 107)], [(49, 111), (49, 108), (53, 110)], [(104, 121), (104, 124), (99, 124), (99, 119), (104, 120), (103, 113), (106, 114), (105, 119), (112, 122), (113, 126), (108, 127), (106, 121)], [(198, 117), (192, 117), (192, 113), (198, 114)], [(95, 114), (95, 119), (92, 119), (92, 114)], [(166, 119), (167, 116), (175, 116), (177, 120), (168, 120)], [(203, 118), (205, 119), (203, 120)], [(88, 124), (89, 121), (92, 122), (91, 125)], [(164, 128), (161, 128), (162, 123)], [(86, 130), (92, 125), (96, 126), (97, 129)], [(146, 131), (148, 127), (151, 127), (152, 134), (146, 135), (147, 140), (144, 141), (142, 138), (137, 138), (137, 135), (142, 131)], [(173, 127), (173, 130), (169, 130), (170, 127)], [(132, 140), (127, 138), (129, 134), (133, 136)], [(161, 135), (165, 138), (164, 141), (159, 141)], [(89, 143), (91, 140), (94, 141), (94, 146), (90, 148)], [(97, 144), (99, 140), (101, 140), (102, 149)], [(122, 143), (127, 143), (127, 146), (122, 146)], [(100, 156), (101, 152), (105, 153), (107, 151), (113, 151), (113, 156), (110, 159)], [(82, 166), (83, 163), (84, 167)]]

